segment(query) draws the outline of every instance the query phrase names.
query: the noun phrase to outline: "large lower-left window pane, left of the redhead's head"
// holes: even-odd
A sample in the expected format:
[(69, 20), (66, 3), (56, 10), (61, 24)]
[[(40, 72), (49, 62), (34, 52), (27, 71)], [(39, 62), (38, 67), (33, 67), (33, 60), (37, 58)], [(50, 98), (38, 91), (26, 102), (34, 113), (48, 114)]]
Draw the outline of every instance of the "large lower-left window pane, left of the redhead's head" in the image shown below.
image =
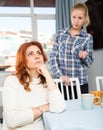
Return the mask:
[(14, 56), (20, 44), (32, 37), (31, 18), (3, 17), (0, 24), (0, 56)]

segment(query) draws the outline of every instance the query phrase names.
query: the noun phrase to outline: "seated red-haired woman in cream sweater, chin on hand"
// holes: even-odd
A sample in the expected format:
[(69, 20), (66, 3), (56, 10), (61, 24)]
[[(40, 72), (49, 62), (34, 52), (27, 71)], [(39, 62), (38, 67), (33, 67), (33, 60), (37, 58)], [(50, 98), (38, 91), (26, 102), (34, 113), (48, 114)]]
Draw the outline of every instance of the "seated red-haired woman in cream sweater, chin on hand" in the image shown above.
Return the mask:
[(16, 72), (3, 87), (2, 130), (44, 130), (44, 112), (62, 112), (66, 104), (45, 65), (37, 41), (24, 43), (16, 55)]

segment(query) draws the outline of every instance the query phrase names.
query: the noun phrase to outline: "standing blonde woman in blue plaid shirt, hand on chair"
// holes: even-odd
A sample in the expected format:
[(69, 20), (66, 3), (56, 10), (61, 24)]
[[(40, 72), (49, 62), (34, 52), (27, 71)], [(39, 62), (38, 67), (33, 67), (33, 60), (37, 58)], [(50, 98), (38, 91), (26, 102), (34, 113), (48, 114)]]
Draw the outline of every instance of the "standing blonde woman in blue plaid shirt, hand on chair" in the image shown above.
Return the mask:
[(54, 76), (66, 85), (70, 85), (69, 78), (79, 78), (81, 93), (88, 93), (87, 67), (93, 63), (93, 37), (85, 29), (88, 24), (87, 6), (75, 4), (71, 10), (71, 26), (57, 33), (50, 54)]

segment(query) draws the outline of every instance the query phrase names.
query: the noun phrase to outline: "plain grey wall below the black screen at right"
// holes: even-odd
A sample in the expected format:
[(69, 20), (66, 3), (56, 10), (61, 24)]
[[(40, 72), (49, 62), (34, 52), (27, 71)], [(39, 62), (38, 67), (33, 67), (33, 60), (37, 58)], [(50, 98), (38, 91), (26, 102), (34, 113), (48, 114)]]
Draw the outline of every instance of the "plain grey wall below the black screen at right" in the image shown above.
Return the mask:
[(94, 51), (94, 63), (88, 69), (89, 90), (96, 90), (95, 77), (103, 76), (103, 49)]

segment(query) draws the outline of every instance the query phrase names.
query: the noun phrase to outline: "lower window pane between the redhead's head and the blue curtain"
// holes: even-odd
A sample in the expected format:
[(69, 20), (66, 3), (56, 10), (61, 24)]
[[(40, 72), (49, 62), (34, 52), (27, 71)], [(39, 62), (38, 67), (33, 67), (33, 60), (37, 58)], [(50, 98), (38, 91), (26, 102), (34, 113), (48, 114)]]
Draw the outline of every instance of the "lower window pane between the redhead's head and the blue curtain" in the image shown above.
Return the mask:
[[(55, 20), (37, 20), (38, 40), (47, 53), (50, 52), (55, 36)], [(48, 54), (49, 55), (49, 54)]]

